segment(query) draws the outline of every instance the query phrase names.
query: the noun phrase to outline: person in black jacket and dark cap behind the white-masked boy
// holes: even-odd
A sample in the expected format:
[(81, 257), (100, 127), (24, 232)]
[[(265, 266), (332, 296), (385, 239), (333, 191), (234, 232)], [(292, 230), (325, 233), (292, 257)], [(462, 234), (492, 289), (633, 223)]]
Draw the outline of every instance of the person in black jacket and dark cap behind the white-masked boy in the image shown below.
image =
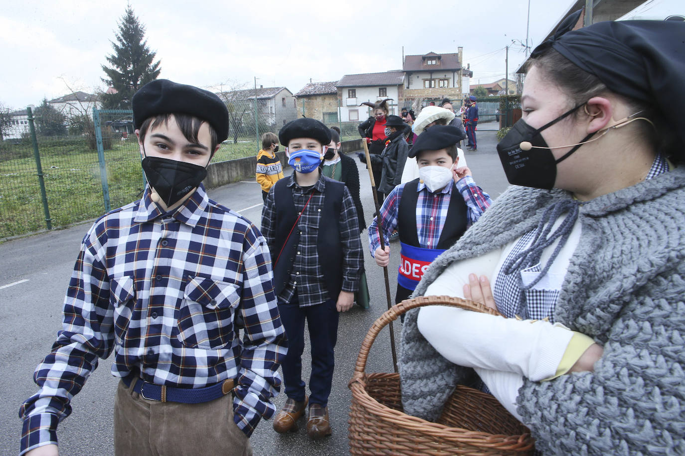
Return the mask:
[(388, 116), (386, 120), (386, 147), (381, 154), (383, 170), (381, 180), (377, 183), (378, 191), (385, 195), (393, 191), (402, 178), (404, 163), (409, 155), (406, 141), (406, 126), (401, 117)]

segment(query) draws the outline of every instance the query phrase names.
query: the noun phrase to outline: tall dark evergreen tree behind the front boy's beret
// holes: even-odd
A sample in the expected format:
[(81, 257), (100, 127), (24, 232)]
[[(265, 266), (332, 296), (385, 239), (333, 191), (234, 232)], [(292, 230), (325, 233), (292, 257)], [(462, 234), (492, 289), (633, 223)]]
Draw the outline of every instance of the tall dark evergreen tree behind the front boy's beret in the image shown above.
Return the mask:
[[(155, 52), (150, 51), (145, 39), (145, 26), (138, 21), (131, 5), (121, 16), (119, 33), (112, 43), (114, 53), (106, 57), (111, 68), (102, 65), (107, 78), (102, 81), (116, 93), (102, 94), (103, 109), (131, 109), (133, 94), (145, 83), (160, 75), (160, 61), (153, 63)], [(110, 91), (113, 92), (113, 91)]]

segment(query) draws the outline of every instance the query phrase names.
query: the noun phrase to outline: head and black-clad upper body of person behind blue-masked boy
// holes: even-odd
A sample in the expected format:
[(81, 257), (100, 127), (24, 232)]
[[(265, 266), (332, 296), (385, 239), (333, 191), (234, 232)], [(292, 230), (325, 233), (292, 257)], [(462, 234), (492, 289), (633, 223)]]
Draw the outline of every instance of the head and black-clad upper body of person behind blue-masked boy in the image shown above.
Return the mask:
[(357, 221), (359, 222), (359, 232), (366, 228), (364, 221), (364, 207), (359, 198), (359, 170), (351, 157), (340, 153), (340, 129), (337, 126), (331, 127), (331, 143), (328, 150), (323, 155), (323, 175), (344, 183), (349, 190), (357, 210)]

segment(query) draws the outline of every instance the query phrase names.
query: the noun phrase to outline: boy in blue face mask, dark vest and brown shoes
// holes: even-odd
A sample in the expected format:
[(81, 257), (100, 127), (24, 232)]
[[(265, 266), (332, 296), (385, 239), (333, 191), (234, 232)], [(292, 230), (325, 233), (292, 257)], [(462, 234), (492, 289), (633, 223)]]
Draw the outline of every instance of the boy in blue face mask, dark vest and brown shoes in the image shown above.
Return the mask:
[[(282, 362), (286, 401), (273, 422), (279, 433), (297, 430), (309, 404), (307, 434), (331, 433), (331, 392), (338, 312), (353, 304), (362, 267), (356, 209), (344, 183), (327, 178), (319, 165), (331, 142), (327, 126), (301, 118), (279, 132), (288, 163), (295, 170), (269, 191), (262, 212), (262, 232), (273, 258), (278, 308), (288, 336)], [(311, 395), (301, 378), (304, 325), (312, 347)]]

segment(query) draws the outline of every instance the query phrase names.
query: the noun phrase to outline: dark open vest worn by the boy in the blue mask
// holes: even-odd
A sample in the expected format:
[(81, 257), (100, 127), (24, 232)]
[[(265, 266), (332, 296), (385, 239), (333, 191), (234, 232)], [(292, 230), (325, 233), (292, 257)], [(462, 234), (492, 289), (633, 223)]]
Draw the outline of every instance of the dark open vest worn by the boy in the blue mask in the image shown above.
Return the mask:
[[(343, 287), (343, 245), (340, 243), (340, 211), (343, 209), (345, 184), (337, 180), (324, 177), (325, 194), (323, 207), (316, 206), (310, 201), (305, 211), (318, 211), (319, 234), (316, 236), (316, 248), (319, 252), (319, 264), (323, 269), (323, 280), (328, 291), (329, 299), (338, 299)], [(275, 241), (271, 252), (273, 262), (273, 286), (279, 295), (290, 281), (292, 263), (297, 254), (300, 230), (296, 226), (290, 234), (288, 243), (284, 246), (288, 233), (297, 220), (295, 201), (292, 200), (292, 187), (288, 187), (290, 178), (284, 178), (275, 183), (274, 202), (276, 208)], [(317, 191), (312, 189), (312, 191)], [(281, 250), (283, 250), (281, 252)], [(280, 258), (278, 258), (279, 252)]]

